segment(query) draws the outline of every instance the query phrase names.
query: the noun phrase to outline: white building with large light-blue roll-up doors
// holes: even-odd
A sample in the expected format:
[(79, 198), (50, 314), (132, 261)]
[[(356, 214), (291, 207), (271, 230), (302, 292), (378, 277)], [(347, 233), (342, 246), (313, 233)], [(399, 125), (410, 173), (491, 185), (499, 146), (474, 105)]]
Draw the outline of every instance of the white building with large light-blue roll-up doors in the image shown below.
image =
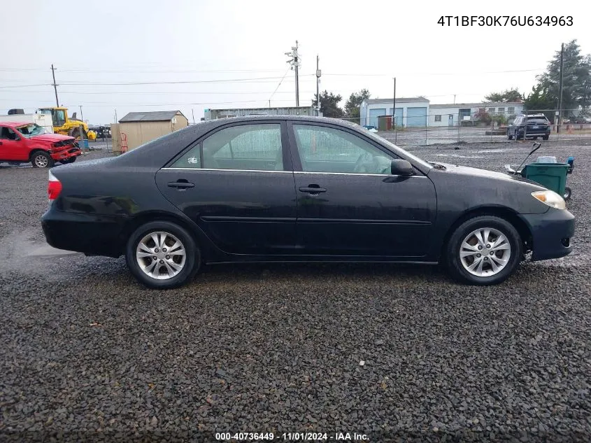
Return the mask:
[(394, 99), (366, 99), (359, 106), (362, 126), (378, 127), (380, 115), (396, 115), (398, 126), (427, 126), (429, 100), (425, 97), (396, 99), (396, 112), (393, 109)]

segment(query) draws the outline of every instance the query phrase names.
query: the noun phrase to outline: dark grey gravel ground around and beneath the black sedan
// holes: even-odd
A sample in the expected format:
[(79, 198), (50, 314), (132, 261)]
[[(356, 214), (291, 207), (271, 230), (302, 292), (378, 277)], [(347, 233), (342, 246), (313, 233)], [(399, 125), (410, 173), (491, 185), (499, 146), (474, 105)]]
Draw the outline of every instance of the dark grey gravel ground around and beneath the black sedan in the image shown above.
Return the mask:
[[(413, 152), (500, 170), (529, 146)], [(34, 255), (47, 171), (0, 166), (0, 441), (588, 442), (590, 149), (540, 153), (576, 156), (574, 253), (487, 288), (437, 267), (218, 265), (146, 290), (122, 259)]]

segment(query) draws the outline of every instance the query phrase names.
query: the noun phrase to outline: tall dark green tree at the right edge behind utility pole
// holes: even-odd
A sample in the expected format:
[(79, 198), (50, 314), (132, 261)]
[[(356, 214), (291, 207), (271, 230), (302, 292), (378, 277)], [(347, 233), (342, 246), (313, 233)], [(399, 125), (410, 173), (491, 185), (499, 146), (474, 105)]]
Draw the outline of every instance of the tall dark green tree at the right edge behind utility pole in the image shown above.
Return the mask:
[[(541, 97), (550, 104), (550, 109), (558, 108), (560, 95), (560, 51), (556, 51), (548, 63), (546, 72), (537, 76)], [(591, 104), (591, 55), (581, 55), (581, 47), (576, 40), (564, 45), (562, 70), (562, 109), (564, 115), (572, 114), (574, 109)]]

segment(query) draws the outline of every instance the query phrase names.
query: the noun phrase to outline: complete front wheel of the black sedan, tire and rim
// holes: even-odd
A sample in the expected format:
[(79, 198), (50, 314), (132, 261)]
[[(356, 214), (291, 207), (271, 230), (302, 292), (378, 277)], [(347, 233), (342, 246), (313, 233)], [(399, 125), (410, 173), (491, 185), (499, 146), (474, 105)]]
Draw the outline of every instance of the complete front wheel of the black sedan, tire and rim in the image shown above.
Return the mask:
[[(484, 237), (485, 230), (490, 230), (488, 241), (485, 241), (484, 245), (480, 245), (480, 241), (473, 233), (480, 232)], [(499, 234), (504, 236), (504, 240), (501, 239), (499, 244), (501, 247), (496, 250), (486, 248), (488, 245), (494, 245), (494, 241), (497, 241), (500, 237)], [(497, 240), (495, 240), (495, 237)], [(462, 247), (466, 240), (468, 246)], [(472, 249), (480, 246), (482, 246), (482, 250)], [(464, 260), (460, 257), (462, 249), (466, 252)], [(485, 253), (478, 251), (485, 251)], [(493, 255), (490, 255), (490, 251), (492, 251)], [(508, 279), (517, 269), (522, 253), (521, 237), (511, 223), (496, 216), (477, 216), (466, 220), (453, 232), (446, 246), (444, 258), (454, 279), (462, 283), (485, 286), (501, 283)], [(483, 266), (479, 269), (480, 265), (476, 265), (471, 272), (467, 268), (474, 265), (478, 260), (476, 256), (478, 254), (480, 254)], [(495, 257), (494, 260), (490, 258), (492, 256)], [(503, 260), (506, 260), (506, 262), (501, 267)], [(480, 260), (478, 260), (478, 263), (480, 263)], [(491, 263), (497, 266), (496, 271)]]

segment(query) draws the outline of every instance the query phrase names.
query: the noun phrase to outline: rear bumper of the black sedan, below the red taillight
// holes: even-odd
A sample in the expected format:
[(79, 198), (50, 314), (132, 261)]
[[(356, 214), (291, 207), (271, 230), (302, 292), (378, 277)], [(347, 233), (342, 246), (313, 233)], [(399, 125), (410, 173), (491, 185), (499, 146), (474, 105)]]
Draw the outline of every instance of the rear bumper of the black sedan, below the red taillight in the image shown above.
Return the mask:
[(58, 211), (54, 205), (41, 217), (48, 244), (66, 251), (119, 257), (124, 252), (124, 226), (129, 218)]

